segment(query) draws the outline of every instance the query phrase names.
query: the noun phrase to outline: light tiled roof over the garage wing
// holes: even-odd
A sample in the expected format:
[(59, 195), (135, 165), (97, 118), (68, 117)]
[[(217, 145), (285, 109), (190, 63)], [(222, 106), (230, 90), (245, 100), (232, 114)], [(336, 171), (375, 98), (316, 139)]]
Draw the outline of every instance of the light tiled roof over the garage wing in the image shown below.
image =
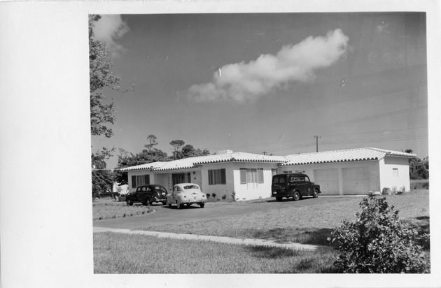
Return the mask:
[(414, 158), (416, 154), (398, 152), (392, 150), (383, 150), (377, 148), (358, 148), (351, 150), (324, 151), (314, 153), (292, 154), (286, 156), (287, 162), (280, 164), (302, 165), (302, 164), (319, 164), (345, 161), (363, 161), (363, 160), (379, 160), (386, 156)]

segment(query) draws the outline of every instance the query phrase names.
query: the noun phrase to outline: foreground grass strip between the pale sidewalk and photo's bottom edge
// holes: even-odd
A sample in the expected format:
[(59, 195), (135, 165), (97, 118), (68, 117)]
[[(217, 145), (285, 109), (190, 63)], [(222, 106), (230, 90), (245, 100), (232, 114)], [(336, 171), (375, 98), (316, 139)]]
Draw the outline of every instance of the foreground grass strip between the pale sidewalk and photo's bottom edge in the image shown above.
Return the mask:
[(94, 273), (337, 273), (333, 257), (332, 251), (94, 233)]

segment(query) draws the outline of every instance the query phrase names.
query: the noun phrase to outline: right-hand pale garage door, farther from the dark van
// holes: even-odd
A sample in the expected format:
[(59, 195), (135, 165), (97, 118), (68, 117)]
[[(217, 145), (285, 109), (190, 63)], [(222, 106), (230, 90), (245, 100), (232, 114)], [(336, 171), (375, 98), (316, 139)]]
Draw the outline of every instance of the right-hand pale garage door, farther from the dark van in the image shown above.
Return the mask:
[(343, 194), (368, 194), (370, 190), (369, 167), (342, 168)]

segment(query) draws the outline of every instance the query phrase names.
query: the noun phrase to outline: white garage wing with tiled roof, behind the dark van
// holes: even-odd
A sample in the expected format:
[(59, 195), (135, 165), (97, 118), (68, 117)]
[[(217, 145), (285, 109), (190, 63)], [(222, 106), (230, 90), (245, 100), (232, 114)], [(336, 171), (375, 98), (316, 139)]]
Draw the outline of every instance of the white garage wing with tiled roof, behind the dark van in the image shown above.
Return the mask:
[(321, 187), (321, 195), (381, 192), (384, 188), (409, 191), (409, 158), (416, 154), (358, 148), (286, 156), (281, 173), (302, 171)]

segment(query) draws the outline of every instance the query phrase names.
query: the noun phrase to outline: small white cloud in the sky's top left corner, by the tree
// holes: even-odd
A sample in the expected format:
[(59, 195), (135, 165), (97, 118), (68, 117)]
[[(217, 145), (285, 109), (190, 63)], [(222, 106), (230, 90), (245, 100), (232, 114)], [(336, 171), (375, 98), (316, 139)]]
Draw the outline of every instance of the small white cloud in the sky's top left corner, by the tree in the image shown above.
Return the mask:
[(118, 44), (117, 41), (129, 31), (129, 26), (121, 15), (101, 15), (101, 19), (94, 25), (93, 31), (97, 40), (109, 44), (113, 53), (123, 52), (123, 45)]

